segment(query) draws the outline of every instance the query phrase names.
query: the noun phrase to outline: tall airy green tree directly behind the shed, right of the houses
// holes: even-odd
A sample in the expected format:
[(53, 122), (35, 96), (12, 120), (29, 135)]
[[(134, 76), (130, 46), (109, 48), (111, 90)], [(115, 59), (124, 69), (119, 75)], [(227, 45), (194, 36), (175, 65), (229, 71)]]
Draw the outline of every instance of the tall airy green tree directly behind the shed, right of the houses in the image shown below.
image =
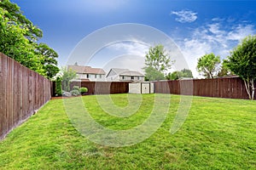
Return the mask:
[(171, 61), (169, 54), (163, 45), (156, 45), (151, 47), (146, 54), (145, 67), (148, 80), (165, 79), (165, 71), (171, 69), (173, 61)]

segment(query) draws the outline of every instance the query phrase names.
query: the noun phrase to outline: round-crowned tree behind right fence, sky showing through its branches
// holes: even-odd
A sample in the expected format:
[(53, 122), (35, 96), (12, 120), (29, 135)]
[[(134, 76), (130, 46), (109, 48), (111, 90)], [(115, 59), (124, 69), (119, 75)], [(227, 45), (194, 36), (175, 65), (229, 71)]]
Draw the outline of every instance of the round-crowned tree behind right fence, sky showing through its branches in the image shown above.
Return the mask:
[(204, 77), (213, 78), (218, 74), (218, 65), (220, 64), (220, 57), (214, 54), (205, 54), (197, 61), (196, 69)]

